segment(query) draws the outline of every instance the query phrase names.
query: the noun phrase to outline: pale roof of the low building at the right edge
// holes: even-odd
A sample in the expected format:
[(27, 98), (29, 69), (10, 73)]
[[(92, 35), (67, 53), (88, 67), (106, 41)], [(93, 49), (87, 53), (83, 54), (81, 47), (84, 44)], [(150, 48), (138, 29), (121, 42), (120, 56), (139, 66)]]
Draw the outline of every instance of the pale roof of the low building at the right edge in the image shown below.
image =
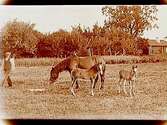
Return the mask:
[(148, 45), (149, 46), (166, 46), (167, 47), (167, 41), (148, 40)]

